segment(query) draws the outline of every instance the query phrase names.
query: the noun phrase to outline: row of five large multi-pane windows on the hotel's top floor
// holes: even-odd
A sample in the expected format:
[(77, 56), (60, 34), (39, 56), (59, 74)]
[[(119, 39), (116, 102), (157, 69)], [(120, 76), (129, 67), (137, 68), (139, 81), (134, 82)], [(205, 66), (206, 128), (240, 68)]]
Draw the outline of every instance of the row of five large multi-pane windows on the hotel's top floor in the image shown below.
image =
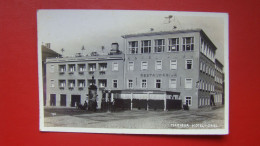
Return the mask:
[[(168, 48), (168, 52), (176, 52), (180, 51), (180, 42), (179, 38), (169, 38), (168, 46), (165, 45), (165, 39), (155, 39), (152, 40), (142, 40), (141, 41), (141, 51), (139, 51), (138, 41), (130, 41), (128, 42), (128, 50), (130, 54), (138, 54), (138, 53), (151, 53), (152, 48), (153, 52), (160, 53), (164, 52), (165, 48)], [(194, 37), (183, 37), (182, 38), (182, 51), (193, 51), (194, 50)]]

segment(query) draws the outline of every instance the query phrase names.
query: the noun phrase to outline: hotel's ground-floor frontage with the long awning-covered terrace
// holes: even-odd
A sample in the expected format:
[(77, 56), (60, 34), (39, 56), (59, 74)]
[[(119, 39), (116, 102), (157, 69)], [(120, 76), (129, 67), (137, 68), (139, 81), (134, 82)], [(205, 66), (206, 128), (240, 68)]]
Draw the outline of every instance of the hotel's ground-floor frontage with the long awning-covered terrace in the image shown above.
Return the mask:
[[(199, 94), (200, 95), (200, 94)], [(47, 106), (76, 107), (78, 104), (96, 104), (97, 109), (106, 110), (114, 107), (116, 109), (144, 109), (144, 110), (173, 110), (182, 109), (183, 105), (190, 106), (198, 103), (198, 108), (205, 106), (221, 105), (222, 94), (207, 93), (207, 98), (202, 96), (184, 96), (180, 92), (161, 90), (105, 90), (97, 89), (95, 95), (89, 92), (82, 93), (59, 93), (47, 96)], [(190, 109), (195, 108), (193, 104)]]

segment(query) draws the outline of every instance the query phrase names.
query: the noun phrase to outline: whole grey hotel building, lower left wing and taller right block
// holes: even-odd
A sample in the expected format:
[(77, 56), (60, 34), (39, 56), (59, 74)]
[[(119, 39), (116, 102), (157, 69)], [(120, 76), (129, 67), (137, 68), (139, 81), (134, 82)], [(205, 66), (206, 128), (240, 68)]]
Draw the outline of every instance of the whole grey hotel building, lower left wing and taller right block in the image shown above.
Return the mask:
[[(108, 55), (46, 60), (46, 106), (89, 102), (97, 87), (98, 108), (119, 101), (126, 109), (198, 109), (223, 100), (223, 65), (201, 29), (128, 34)], [(218, 79), (218, 81), (217, 81)]]

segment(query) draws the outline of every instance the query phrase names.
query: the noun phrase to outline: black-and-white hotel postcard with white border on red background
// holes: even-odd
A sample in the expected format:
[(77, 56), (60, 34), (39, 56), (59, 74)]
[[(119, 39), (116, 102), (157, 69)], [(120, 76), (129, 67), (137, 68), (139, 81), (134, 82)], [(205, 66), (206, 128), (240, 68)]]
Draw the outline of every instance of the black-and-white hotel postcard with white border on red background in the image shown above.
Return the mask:
[(38, 10), (40, 131), (228, 134), (228, 14)]

